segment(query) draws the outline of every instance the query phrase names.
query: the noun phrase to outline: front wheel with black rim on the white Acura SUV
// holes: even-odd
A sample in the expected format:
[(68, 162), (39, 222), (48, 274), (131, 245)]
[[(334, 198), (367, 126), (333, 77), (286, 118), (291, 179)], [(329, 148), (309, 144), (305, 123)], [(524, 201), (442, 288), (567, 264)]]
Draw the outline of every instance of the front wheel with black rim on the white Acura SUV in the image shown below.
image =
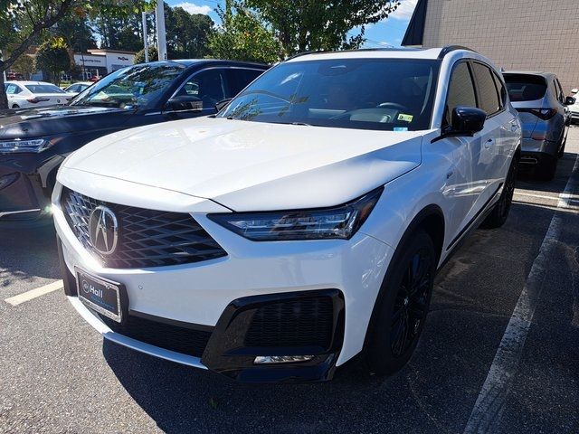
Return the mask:
[(370, 372), (392, 375), (413, 355), (428, 313), (437, 255), (432, 238), (418, 231), (396, 255), (375, 308), (375, 321), (366, 343)]

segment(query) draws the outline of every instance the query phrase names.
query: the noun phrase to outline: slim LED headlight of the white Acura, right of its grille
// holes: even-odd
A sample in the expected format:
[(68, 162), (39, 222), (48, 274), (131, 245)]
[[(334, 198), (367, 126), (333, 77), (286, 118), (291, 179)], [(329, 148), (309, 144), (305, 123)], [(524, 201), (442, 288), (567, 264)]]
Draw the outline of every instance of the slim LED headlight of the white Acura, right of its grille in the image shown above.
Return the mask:
[(365, 222), (384, 187), (344, 205), (319, 210), (233, 212), (207, 217), (252, 241), (350, 239)]

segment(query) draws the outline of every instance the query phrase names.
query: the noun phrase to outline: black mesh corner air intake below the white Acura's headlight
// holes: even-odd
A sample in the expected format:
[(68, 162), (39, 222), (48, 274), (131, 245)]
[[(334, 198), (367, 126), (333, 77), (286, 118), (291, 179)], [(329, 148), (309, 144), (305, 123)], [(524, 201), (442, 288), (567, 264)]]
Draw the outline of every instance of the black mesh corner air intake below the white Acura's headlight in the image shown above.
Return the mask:
[(317, 346), (327, 349), (333, 329), (331, 297), (303, 297), (260, 307), (246, 346)]

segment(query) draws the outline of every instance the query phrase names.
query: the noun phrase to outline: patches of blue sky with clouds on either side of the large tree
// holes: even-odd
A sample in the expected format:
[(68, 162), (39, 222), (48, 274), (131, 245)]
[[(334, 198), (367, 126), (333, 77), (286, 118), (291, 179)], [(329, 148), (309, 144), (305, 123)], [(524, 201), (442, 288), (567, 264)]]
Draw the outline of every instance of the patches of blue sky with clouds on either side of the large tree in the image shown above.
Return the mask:
[[(365, 47), (400, 46), (417, 1), (400, 0), (400, 7), (388, 19), (367, 27)], [(214, 9), (217, 5), (223, 5), (225, 2), (223, 0), (166, 0), (166, 3), (172, 6), (181, 6), (192, 14), (208, 14), (214, 22), (218, 23), (219, 17), (214, 13)]]

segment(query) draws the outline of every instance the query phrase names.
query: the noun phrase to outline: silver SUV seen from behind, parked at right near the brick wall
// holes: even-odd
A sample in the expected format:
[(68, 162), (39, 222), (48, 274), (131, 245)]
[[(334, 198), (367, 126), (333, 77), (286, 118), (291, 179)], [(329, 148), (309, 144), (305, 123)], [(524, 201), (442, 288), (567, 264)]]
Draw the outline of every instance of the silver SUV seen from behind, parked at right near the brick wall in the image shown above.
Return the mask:
[(571, 120), (567, 106), (574, 98), (565, 98), (561, 83), (549, 72), (507, 71), (503, 76), (523, 126), (520, 163), (533, 166), (543, 180), (553, 179), (557, 160), (565, 152)]

